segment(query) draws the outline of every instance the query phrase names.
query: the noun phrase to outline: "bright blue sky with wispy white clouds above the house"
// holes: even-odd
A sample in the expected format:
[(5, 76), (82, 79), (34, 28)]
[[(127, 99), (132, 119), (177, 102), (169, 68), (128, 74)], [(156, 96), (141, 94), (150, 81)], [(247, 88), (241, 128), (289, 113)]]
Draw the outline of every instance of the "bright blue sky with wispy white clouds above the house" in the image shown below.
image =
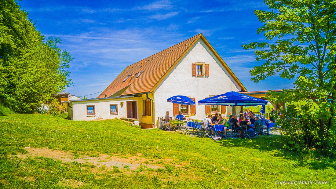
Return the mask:
[[(45, 36), (62, 40), (71, 63), (67, 92), (95, 98), (129, 64), (202, 33), (248, 91), (293, 87), (278, 75), (253, 83), (249, 70), (260, 65), (241, 45), (264, 40), (253, 14), (267, 7), (251, 1), (19, 1)], [(83, 97), (81, 97), (83, 98)]]

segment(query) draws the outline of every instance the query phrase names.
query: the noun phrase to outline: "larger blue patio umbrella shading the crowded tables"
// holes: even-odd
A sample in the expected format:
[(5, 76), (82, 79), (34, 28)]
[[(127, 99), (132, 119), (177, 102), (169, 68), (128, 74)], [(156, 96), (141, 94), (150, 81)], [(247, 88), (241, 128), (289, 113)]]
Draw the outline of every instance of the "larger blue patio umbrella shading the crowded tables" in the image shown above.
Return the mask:
[(256, 106), (266, 105), (266, 100), (254, 98), (252, 96), (240, 94), (238, 92), (227, 92), (225, 94), (199, 100), (198, 105), (224, 105), (224, 106)]

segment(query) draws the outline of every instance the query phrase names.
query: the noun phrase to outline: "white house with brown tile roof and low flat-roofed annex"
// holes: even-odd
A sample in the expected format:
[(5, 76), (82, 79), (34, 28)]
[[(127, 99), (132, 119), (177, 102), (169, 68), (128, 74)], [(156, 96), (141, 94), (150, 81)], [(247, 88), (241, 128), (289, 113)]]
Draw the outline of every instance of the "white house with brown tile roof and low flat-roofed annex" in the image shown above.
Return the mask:
[[(73, 120), (138, 119), (142, 126), (158, 125), (158, 117), (177, 115), (203, 119), (216, 112), (226, 116), (226, 106), (198, 105), (198, 100), (229, 91), (246, 91), (202, 34), (129, 65), (96, 99), (73, 100)], [(179, 106), (169, 97), (184, 95), (196, 105)], [(237, 110), (239, 111), (239, 110)], [(235, 112), (237, 113), (237, 112)]]

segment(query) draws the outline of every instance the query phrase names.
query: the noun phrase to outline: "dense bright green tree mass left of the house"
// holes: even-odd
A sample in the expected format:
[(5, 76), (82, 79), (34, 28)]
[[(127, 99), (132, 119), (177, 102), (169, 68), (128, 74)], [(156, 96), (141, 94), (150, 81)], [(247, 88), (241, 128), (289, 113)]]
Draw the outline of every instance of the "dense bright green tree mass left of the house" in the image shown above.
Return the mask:
[(60, 42), (45, 40), (14, 0), (0, 0), (0, 102), (31, 112), (69, 86), (72, 57)]

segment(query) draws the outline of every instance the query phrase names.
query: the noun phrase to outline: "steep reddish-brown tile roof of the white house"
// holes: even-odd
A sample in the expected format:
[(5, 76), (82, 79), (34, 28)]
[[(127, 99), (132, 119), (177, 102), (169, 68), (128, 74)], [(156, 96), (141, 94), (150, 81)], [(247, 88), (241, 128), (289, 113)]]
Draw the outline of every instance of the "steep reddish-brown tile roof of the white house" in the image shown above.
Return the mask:
[[(141, 66), (141, 60), (127, 66), (123, 72), (121, 72), (120, 75), (98, 96), (98, 98), (104, 98), (105, 95), (109, 97), (127, 86), (128, 88), (121, 94), (121, 96), (152, 92), (199, 38), (202, 38), (210, 49), (213, 50), (204, 36), (202, 34), (198, 34), (181, 43), (169, 47), (168, 49), (143, 59), (143, 66)], [(219, 55), (216, 51), (214, 51), (214, 53), (218, 58)], [(222, 61), (224, 67), (228, 69), (228, 72), (233, 76), (238, 85), (246, 91), (245, 87), (232, 73), (225, 62), (220, 57), (219, 60)], [(141, 71), (143, 71), (141, 76), (133, 79), (135, 73), (139, 73)], [(131, 77), (123, 82), (123, 80), (125, 80), (125, 78), (129, 75), (131, 75)]]

